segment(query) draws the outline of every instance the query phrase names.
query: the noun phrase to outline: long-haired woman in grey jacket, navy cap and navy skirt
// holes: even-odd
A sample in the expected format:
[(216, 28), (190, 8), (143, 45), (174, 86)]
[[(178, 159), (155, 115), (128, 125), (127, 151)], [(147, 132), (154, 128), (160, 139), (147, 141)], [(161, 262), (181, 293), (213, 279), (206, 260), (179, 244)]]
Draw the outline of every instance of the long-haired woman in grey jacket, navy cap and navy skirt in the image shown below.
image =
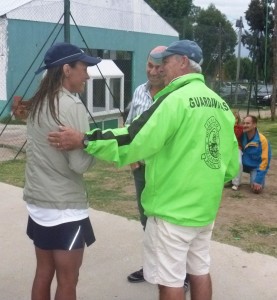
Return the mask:
[(83, 183), (92, 158), (83, 150), (50, 147), (47, 134), (62, 124), (89, 129), (85, 107), (73, 93), (83, 92), (89, 78), (87, 66), (100, 61), (74, 45), (57, 43), (46, 52), (45, 66), (36, 72), (47, 70), (31, 98), (27, 121), (23, 197), (29, 213), (27, 234), (37, 259), (32, 300), (50, 299), (55, 273), (55, 299), (75, 300), (84, 246), (95, 241)]

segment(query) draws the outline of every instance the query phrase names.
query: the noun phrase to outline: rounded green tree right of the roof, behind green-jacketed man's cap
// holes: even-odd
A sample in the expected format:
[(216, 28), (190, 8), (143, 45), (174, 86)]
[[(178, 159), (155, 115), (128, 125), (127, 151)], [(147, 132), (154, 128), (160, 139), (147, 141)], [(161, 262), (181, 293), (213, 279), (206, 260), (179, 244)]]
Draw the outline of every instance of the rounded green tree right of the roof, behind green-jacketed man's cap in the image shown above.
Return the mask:
[(221, 80), (223, 64), (235, 52), (236, 32), (227, 17), (213, 4), (206, 10), (200, 9), (196, 23), (194, 37), (203, 50), (203, 72)]

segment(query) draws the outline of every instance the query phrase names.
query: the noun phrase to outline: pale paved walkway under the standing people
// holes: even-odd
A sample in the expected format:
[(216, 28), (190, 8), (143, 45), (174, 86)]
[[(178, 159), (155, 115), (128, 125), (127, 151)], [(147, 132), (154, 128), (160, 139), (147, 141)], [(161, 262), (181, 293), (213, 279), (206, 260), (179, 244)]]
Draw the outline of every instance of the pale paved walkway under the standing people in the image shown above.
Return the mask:
[[(34, 249), (25, 235), (22, 189), (0, 183), (0, 299), (29, 300)], [(96, 243), (86, 248), (79, 300), (157, 300), (156, 286), (130, 284), (141, 265), (142, 229), (137, 221), (90, 209)], [(213, 300), (276, 300), (277, 259), (212, 242)], [(190, 298), (189, 295), (187, 298)]]

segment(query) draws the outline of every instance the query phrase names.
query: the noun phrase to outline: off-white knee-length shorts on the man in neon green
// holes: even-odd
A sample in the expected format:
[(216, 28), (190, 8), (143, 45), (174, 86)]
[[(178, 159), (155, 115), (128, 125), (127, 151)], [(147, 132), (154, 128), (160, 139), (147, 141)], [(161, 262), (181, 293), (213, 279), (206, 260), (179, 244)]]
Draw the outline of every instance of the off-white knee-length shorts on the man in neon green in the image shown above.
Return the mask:
[(186, 273), (208, 274), (213, 225), (184, 227), (149, 217), (144, 234), (145, 280), (168, 287), (182, 287)]

